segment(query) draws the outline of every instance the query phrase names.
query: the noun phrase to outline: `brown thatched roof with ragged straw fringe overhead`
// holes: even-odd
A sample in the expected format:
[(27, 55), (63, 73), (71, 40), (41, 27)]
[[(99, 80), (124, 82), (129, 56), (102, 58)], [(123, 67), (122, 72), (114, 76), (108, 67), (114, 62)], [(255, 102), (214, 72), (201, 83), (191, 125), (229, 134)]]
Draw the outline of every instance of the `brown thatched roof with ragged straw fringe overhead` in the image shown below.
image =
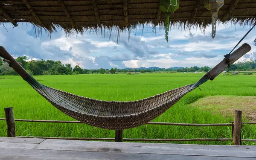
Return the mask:
[[(224, 0), (218, 20), (255, 23), (256, 0)], [(138, 25), (153, 24), (163, 27), (165, 15), (159, 0), (0, 0), (0, 23), (29, 22), (53, 32), (56, 28), (66, 33), (108, 29), (134, 29)], [(203, 0), (180, 0), (180, 8), (170, 16), (172, 25), (206, 27), (211, 24), (211, 13)]]

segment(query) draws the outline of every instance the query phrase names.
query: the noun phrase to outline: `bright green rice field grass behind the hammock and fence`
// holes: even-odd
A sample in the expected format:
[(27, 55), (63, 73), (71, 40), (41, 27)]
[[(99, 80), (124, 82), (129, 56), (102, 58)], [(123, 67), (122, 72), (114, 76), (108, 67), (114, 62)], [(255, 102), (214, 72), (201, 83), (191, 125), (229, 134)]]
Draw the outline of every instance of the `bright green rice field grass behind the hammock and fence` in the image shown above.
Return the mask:
[[(35, 79), (54, 87), (93, 99), (130, 101), (143, 99), (166, 90), (191, 84), (203, 76), (188, 73), (151, 74), (85, 74), (63, 76), (35, 76)], [(206, 96), (233, 95), (256, 96), (256, 76), (218, 76), (207, 81), (184, 96), (154, 122), (179, 123), (227, 123), (233, 120), (221, 114), (192, 107), (190, 104)], [(40, 96), (20, 76), (0, 76), (0, 117), (5, 107), (14, 107), (16, 119), (74, 120), (58, 111)], [(243, 119), (246, 120), (246, 119)], [(6, 136), (6, 123), (0, 121), (0, 136)], [(86, 124), (16, 122), (17, 136), (43, 137), (114, 137), (114, 131), (95, 128)], [(231, 138), (231, 127), (186, 127), (167, 125), (143, 125), (124, 131), (124, 138)], [(246, 125), (242, 138), (256, 139), (256, 127)], [(173, 142), (176, 143), (176, 142)], [(231, 141), (179, 142), (188, 144), (231, 144)], [(243, 143), (252, 145), (253, 143)]]

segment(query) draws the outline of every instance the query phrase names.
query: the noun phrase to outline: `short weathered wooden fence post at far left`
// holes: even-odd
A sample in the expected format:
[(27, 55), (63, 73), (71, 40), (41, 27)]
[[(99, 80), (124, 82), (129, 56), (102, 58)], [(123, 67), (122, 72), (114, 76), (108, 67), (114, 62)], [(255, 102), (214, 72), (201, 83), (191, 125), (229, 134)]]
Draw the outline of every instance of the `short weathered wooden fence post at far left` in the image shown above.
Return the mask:
[(7, 137), (16, 137), (13, 108), (12, 107), (4, 108), (4, 113), (6, 116)]

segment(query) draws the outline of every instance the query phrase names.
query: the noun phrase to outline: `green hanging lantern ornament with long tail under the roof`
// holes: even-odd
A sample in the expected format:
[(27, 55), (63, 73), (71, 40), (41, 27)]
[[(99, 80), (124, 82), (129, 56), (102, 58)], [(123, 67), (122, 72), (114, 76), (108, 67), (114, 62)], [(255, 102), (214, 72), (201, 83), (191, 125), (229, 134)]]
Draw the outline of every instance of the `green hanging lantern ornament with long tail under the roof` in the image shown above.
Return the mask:
[(161, 11), (164, 14), (166, 14), (164, 26), (165, 26), (165, 37), (166, 37), (166, 41), (168, 42), (170, 14), (175, 12), (180, 7), (180, 0), (160, 0), (159, 7), (160, 7)]

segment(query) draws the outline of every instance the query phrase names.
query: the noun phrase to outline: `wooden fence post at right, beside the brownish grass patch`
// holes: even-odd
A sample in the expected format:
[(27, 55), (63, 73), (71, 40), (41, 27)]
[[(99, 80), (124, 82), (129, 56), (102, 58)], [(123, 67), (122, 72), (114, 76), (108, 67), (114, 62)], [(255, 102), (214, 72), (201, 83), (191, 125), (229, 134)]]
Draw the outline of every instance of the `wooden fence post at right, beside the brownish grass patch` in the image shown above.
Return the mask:
[(233, 145), (242, 145), (241, 142), (241, 127), (242, 126), (242, 111), (236, 110), (234, 133), (233, 133)]

